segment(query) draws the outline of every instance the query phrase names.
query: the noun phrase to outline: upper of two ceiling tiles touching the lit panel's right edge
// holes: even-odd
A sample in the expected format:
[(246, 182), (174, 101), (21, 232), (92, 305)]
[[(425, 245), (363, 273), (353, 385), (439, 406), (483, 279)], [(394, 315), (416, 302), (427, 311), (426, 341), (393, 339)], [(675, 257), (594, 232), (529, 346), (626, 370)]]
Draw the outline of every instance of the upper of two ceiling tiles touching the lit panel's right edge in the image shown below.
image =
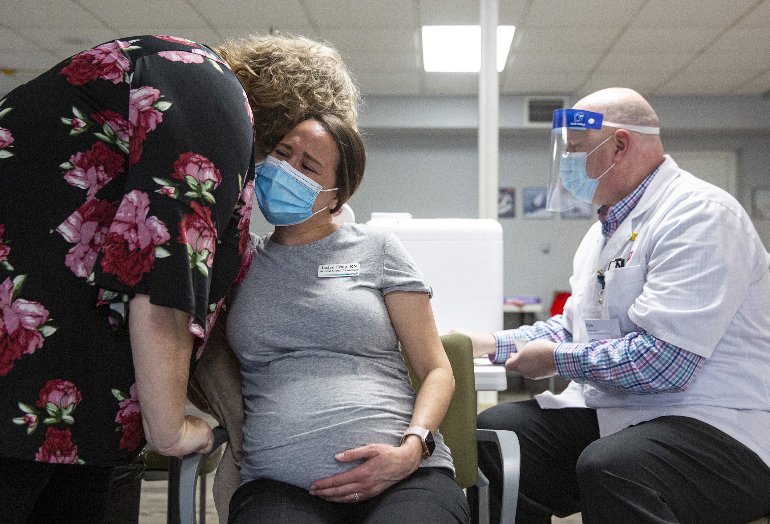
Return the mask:
[[(521, 29), (521, 42), (516, 51), (526, 52), (594, 52), (603, 53), (618, 35), (618, 29), (613, 28), (581, 28), (580, 31), (565, 39), (566, 29), (530, 28)], [(517, 32), (519, 30), (517, 29)]]

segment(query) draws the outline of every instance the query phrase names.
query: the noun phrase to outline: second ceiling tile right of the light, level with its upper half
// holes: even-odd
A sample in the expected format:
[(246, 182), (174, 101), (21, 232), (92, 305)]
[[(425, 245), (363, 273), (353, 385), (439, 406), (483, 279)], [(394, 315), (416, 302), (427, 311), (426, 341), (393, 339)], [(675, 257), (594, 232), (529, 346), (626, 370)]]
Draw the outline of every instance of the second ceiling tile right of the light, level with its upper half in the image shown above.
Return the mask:
[(700, 51), (721, 29), (718, 27), (630, 27), (614, 45), (614, 52), (688, 52)]

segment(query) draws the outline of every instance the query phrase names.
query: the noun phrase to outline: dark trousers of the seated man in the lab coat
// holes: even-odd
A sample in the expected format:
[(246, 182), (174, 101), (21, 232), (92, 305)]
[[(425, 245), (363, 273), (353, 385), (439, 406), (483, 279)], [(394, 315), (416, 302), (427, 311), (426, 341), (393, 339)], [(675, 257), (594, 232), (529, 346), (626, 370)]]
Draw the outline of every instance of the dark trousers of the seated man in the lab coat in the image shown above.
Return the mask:
[[(655, 418), (599, 438), (593, 409), (541, 409), (531, 400), (487, 409), (478, 427), (518, 435), (517, 524), (547, 524), (552, 515), (578, 511), (589, 524), (745, 524), (770, 514), (770, 468), (695, 418)], [(490, 522), (500, 519), (499, 460), (480, 442)]]

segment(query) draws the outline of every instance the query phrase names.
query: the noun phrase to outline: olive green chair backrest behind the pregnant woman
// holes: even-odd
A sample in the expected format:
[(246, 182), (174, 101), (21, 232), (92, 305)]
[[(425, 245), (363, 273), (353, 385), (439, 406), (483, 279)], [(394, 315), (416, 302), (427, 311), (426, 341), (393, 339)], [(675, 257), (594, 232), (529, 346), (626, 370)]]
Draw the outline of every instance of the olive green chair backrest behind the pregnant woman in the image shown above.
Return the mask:
[[(439, 431), (452, 453), (457, 484), (460, 488), (468, 488), (476, 484), (478, 473), (474, 348), (470, 338), (464, 334), (444, 335), (441, 344), (444, 344), (444, 351), (452, 365), (454, 396)], [(420, 381), (414, 376), (407, 355), (403, 351), (401, 354), (407, 363), (414, 391), (420, 391)]]

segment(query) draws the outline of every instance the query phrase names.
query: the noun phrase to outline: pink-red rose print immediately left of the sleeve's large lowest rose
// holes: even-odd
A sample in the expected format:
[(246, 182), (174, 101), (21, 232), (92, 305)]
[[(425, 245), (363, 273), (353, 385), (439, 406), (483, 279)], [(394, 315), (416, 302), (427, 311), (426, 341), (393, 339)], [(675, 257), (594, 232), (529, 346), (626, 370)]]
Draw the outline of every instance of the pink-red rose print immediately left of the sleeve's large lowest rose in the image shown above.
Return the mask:
[(65, 240), (77, 244), (64, 260), (78, 277), (91, 274), (117, 209), (115, 203), (91, 198), (56, 228)]

